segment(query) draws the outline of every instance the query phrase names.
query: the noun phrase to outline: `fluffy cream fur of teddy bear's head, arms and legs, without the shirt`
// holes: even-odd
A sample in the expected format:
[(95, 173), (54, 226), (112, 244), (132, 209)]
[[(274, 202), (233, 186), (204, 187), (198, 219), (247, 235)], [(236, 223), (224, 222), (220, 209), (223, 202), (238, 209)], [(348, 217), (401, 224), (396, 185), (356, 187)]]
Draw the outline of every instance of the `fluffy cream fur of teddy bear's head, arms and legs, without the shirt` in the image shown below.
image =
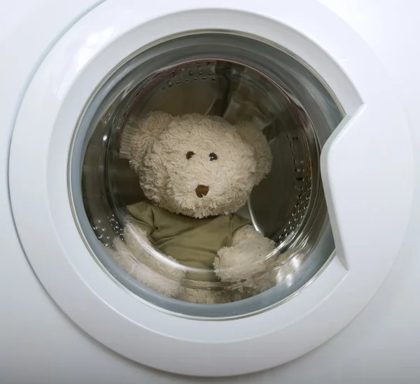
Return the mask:
[[(231, 125), (203, 115), (173, 117), (149, 113), (125, 127), (120, 155), (130, 161), (146, 197), (173, 213), (195, 218), (237, 211), (270, 170), (272, 155), (262, 132), (251, 123)], [(197, 185), (208, 187), (204, 197)], [(155, 257), (146, 234), (127, 222), (125, 241), (114, 242), (113, 258), (144, 285), (195, 303), (221, 303), (248, 296), (274, 283), (274, 242), (251, 225), (235, 232), (231, 247), (218, 251), (214, 269), (226, 290), (183, 287), (185, 269), (172, 257)], [(205, 287), (204, 287), (205, 288)]]

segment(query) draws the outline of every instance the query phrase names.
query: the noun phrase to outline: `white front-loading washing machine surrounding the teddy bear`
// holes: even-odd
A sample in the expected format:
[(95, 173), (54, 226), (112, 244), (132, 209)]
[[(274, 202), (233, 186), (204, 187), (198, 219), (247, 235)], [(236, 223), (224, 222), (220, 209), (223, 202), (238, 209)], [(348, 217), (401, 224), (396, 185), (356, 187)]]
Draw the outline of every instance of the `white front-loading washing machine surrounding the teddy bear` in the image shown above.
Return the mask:
[[(1, 383), (419, 382), (419, 3), (0, 4)], [(202, 304), (114, 262), (118, 143), (157, 109), (265, 134), (241, 214), (274, 287)]]

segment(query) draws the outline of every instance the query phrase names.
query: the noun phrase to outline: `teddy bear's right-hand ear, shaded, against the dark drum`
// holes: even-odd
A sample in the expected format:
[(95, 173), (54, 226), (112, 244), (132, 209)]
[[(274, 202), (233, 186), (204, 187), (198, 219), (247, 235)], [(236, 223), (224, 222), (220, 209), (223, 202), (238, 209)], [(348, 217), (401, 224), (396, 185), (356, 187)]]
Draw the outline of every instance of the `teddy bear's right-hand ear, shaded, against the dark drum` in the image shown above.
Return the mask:
[(267, 138), (253, 122), (240, 122), (235, 125), (237, 133), (253, 148), (253, 153), (257, 162), (255, 169), (255, 185), (267, 176), (272, 167), (272, 152), (269, 148)]

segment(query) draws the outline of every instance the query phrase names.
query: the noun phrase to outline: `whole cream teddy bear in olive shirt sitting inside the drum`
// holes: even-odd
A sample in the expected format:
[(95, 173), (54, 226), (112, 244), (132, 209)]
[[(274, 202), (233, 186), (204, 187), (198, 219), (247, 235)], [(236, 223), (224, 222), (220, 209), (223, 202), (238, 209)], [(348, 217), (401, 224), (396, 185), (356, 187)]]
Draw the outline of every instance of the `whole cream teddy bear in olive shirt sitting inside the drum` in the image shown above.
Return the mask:
[(236, 213), (272, 164), (252, 122), (153, 111), (127, 122), (120, 156), (147, 198), (126, 207), (123, 239), (113, 242), (113, 259), (132, 278), (198, 304), (274, 285), (274, 241)]

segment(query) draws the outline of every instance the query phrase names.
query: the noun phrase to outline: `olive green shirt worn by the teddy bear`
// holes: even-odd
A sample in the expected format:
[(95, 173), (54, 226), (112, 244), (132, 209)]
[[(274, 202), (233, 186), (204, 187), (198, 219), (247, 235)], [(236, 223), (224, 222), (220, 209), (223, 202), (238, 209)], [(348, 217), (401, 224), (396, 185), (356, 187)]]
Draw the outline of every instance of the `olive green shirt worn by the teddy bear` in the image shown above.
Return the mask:
[(213, 269), (218, 250), (232, 246), (234, 232), (250, 223), (234, 214), (190, 218), (148, 202), (127, 206), (127, 211), (162, 253), (183, 265), (203, 269)]

